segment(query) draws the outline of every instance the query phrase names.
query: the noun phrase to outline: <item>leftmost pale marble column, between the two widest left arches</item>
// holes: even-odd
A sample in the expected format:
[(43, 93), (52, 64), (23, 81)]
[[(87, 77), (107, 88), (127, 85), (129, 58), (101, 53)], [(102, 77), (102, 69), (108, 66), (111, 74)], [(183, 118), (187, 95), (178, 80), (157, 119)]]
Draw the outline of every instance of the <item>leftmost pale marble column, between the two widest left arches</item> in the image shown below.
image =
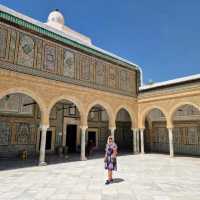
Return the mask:
[(46, 165), (45, 162), (45, 149), (46, 149), (46, 135), (47, 135), (47, 129), (49, 128), (48, 125), (41, 125), (40, 126), (42, 130), (41, 134), (41, 142), (40, 142), (40, 158), (39, 158), (39, 165)]

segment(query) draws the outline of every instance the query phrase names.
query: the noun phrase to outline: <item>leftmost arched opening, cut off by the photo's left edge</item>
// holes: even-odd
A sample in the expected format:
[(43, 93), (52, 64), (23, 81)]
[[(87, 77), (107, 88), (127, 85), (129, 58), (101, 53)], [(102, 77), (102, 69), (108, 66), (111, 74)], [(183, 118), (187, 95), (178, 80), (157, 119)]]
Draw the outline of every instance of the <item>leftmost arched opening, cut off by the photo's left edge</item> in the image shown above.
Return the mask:
[(9, 93), (0, 99), (0, 158), (27, 159), (39, 151), (41, 112), (38, 103), (24, 93)]

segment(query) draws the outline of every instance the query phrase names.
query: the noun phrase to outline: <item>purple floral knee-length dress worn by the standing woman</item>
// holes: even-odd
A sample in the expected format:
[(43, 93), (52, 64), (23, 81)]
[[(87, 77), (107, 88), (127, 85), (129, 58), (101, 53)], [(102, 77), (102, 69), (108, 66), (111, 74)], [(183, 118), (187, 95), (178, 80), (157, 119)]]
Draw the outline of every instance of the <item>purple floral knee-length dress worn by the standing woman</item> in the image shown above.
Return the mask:
[(106, 145), (105, 169), (117, 171), (117, 159), (112, 156), (114, 150), (117, 150), (115, 143)]

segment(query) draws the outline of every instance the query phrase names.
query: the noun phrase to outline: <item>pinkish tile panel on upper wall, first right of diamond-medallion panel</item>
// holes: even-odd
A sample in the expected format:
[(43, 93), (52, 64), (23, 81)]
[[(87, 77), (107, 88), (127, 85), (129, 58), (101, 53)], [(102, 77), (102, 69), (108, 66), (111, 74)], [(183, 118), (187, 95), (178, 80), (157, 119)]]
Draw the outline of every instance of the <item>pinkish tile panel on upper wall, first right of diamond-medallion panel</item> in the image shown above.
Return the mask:
[(56, 49), (55, 49), (55, 47), (45, 45), (44, 68), (51, 72), (55, 71), (55, 68), (56, 68)]

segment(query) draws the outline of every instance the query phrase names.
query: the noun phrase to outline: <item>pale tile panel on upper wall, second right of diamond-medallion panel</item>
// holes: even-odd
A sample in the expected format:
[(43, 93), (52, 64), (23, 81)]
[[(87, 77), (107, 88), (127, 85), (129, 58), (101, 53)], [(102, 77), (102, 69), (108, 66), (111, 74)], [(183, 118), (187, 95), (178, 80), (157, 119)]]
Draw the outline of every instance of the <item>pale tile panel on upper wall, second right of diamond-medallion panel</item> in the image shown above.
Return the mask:
[(64, 76), (75, 77), (74, 54), (68, 50), (64, 50)]

